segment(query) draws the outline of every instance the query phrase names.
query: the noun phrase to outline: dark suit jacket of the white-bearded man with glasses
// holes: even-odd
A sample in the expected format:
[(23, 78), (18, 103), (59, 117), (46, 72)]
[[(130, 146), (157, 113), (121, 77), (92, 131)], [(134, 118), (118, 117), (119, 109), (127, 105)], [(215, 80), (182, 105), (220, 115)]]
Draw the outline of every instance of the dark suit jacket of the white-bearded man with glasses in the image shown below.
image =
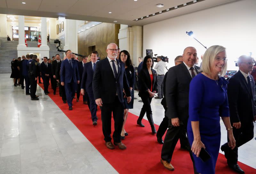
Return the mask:
[(115, 101), (116, 92), (120, 102), (124, 102), (123, 89), (127, 97), (131, 96), (126, 74), (124, 72), (124, 63), (117, 60), (117, 79), (115, 79), (113, 70), (105, 58), (96, 63), (93, 74), (92, 90), (95, 99), (101, 98), (104, 103), (113, 103)]

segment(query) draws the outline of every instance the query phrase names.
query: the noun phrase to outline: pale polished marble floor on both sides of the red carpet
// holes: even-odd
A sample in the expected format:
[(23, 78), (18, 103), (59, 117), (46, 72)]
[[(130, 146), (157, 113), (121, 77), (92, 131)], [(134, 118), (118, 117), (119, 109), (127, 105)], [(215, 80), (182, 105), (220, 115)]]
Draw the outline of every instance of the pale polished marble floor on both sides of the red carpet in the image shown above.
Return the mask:
[[(117, 173), (41, 87), (36, 92), (40, 99), (31, 101), (9, 77), (0, 74), (0, 174)], [(135, 97), (129, 112), (139, 115), (142, 103), (137, 92)], [(160, 102), (154, 98), (151, 104), (157, 125), (164, 116)], [(222, 122), (221, 131), (224, 143), (227, 134)], [(238, 160), (256, 169), (255, 148), (253, 138), (239, 148)]]

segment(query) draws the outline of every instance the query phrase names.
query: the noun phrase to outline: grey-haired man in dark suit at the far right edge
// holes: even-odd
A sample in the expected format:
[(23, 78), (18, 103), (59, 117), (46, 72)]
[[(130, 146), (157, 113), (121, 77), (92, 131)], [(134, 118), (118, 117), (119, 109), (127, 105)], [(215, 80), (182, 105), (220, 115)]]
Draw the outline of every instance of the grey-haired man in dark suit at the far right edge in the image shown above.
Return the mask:
[(237, 173), (244, 171), (237, 164), (238, 147), (253, 138), (253, 121), (256, 120), (256, 107), (254, 102), (254, 79), (249, 74), (255, 64), (252, 57), (242, 55), (237, 61), (239, 71), (228, 80), (228, 105), (230, 122), (236, 147), (232, 150), (228, 142), (221, 146), (227, 158), (228, 166)]

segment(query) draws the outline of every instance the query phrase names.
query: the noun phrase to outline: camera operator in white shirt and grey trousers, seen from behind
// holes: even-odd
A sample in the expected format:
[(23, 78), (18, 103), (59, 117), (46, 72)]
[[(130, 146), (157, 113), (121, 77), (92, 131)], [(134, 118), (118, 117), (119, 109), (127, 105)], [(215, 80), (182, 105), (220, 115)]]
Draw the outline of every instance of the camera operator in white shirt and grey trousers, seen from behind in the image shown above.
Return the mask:
[(164, 98), (164, 68), (165, 62), (162, 61), (162, 57), (158, 56), (156, 59), (157, 63), (155, 66), (157, 74), (157, 99)]

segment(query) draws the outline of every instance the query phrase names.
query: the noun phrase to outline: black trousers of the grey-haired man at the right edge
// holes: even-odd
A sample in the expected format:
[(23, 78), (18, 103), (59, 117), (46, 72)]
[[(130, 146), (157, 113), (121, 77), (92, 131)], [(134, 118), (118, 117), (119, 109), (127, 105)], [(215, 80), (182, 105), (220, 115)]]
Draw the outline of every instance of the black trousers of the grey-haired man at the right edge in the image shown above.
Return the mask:
[[(241, 123), (241, 127), (239, 129), (236, 129), (235, 127), (233, 127), (233, 135), (236, 140), (236, 147), (232, 150), (231, 148), (228, 147), (228, 143), (223, 144), (224, 148), (228, 149), (227, 153), (225, 153), (228, 164), (237, 164), (238, 148), (243, 144), (245, 144), (246, 142), (252, 140), (254, 135), (253, 128), (254, 128), (253, 122)], [(228, 142), (229, 142), (229, 139), (228, 139)]]

